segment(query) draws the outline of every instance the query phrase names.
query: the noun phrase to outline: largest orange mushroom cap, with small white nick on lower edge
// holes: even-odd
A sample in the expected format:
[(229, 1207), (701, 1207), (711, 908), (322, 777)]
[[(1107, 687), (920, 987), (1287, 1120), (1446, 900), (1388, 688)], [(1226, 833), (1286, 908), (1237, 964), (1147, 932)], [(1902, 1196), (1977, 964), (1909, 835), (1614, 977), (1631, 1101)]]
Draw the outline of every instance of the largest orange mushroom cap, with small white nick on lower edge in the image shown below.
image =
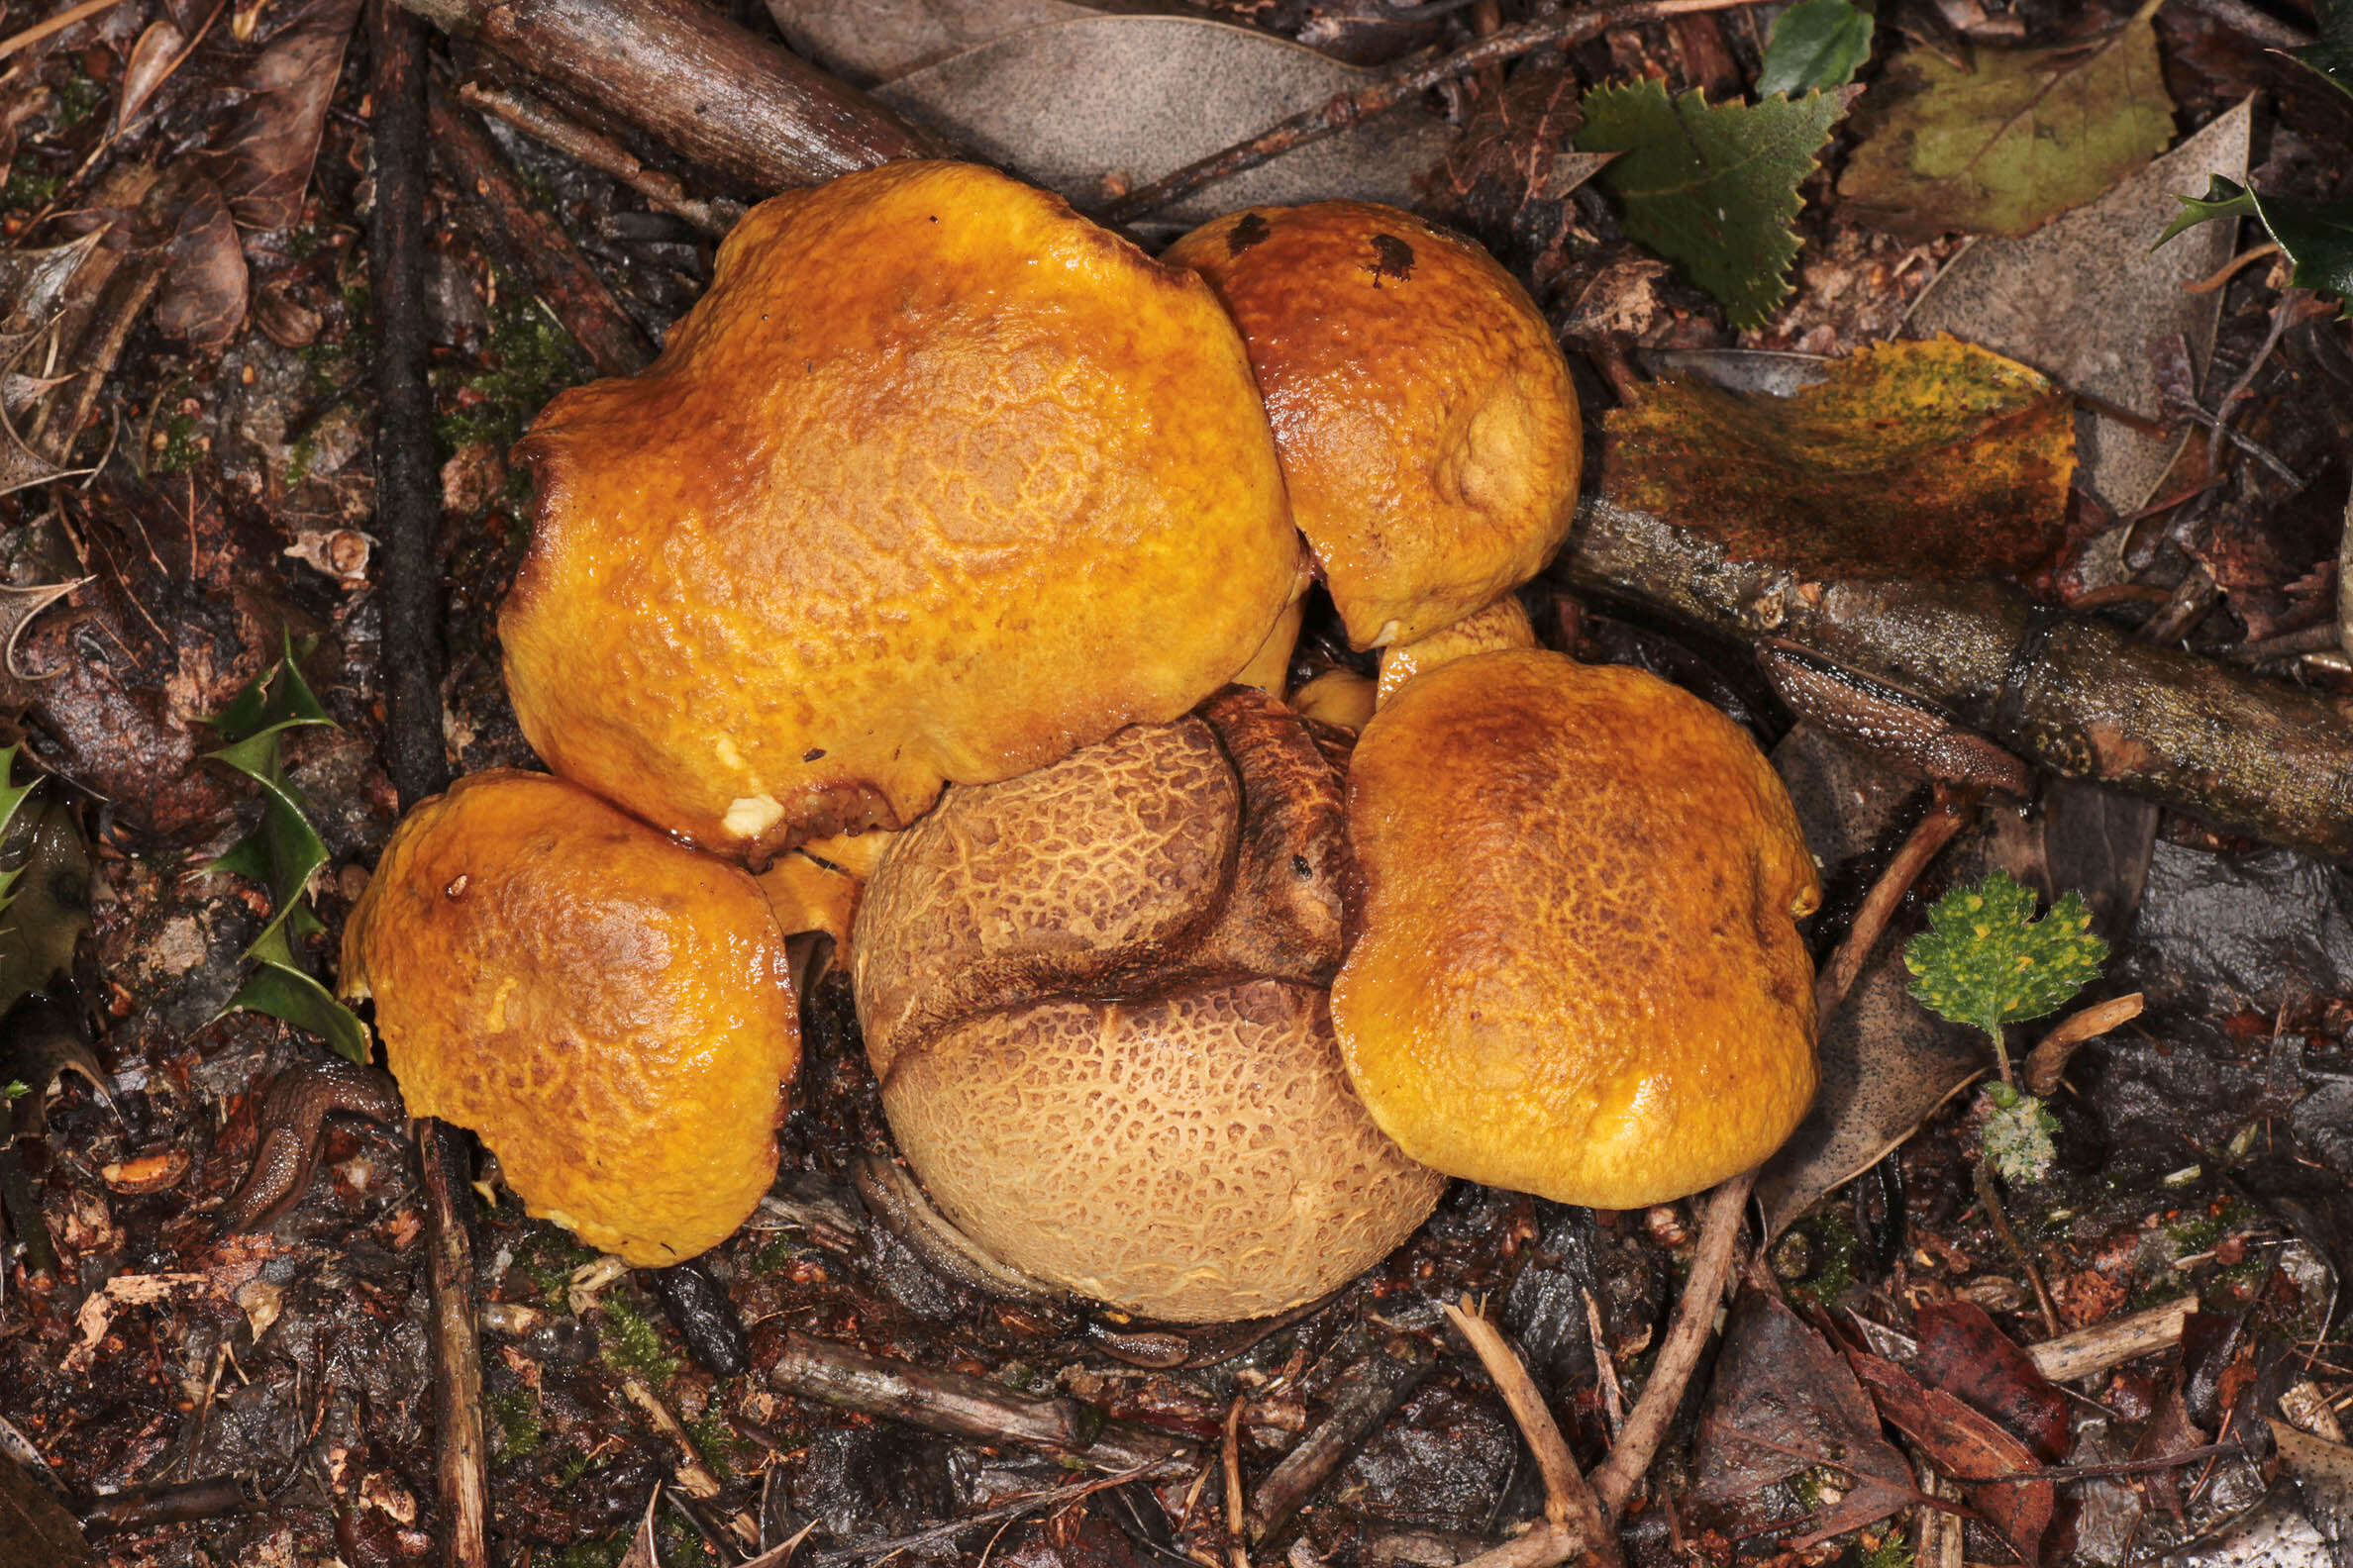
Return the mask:
[(1174, 719), (1306, 567), (1212, 292), (974, 165), (762, 202), (661, 360), (520, 456), (522, 733), (753, 858)]

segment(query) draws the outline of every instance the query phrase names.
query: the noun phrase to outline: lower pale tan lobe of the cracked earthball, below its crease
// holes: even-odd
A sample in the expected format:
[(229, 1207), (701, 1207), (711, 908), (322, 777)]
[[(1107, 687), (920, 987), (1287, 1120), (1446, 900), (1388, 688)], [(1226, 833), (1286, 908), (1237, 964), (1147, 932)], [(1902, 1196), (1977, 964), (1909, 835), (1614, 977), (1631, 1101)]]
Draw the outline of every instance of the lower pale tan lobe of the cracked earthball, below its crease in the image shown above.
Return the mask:
[(882, 1107), (984, 1248), (1172, 1321), (1313, 1300), (1445, 1190), (1365, 1114), (1308, 985), (988, 1013), (906, 1051)]

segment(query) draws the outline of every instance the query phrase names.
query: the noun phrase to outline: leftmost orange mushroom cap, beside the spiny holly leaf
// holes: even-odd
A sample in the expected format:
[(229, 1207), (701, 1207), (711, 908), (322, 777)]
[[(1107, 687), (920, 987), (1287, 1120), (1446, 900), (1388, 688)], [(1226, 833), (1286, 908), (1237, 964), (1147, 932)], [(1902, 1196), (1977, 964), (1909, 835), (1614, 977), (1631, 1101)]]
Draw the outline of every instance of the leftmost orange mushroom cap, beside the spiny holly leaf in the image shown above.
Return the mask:
[(409, 811), (344, 985), (409, 1114), (480, 1133), (588, 1246), (692, 1258), (776, 1175), (800, 1011), (760, 884), (576, 785), (475, 773)]

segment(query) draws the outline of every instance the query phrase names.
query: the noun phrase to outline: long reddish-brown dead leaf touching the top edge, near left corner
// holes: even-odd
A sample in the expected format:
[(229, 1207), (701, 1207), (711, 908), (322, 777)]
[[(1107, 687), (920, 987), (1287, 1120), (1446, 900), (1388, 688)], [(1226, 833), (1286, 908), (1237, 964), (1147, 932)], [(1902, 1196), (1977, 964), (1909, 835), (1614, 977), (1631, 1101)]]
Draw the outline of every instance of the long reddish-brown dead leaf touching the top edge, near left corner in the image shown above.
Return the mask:
[(245, 228), (292, 228), (311, 183), (327, 101), (344, 68), (344, 45), (360, 19), (360, 0), (311, 0), (278, 28), (245, 71), (245, 99), (214, 148), (228, 212)]

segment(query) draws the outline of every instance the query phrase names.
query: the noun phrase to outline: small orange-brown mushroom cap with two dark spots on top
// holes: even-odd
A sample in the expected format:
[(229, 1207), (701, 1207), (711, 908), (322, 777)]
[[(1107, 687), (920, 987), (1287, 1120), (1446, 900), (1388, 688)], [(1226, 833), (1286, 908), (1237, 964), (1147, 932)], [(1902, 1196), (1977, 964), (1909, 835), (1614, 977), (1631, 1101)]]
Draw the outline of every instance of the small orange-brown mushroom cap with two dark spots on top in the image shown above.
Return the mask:
[(1162, 259), (1242, 327), (1292, 515), (1355, 646), (1426, 637), (1560, 548), (1577, 390), (1487, 252), (1395, 207), (1313, 202), (1214, 219)]

